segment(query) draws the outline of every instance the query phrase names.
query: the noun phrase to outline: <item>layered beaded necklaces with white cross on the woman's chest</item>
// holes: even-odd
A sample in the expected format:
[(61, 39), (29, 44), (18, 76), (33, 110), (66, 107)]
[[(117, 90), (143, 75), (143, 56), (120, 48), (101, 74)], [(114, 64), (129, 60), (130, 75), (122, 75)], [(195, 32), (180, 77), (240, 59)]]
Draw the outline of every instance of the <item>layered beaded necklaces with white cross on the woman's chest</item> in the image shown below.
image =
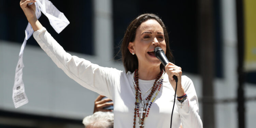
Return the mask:
[[(138, 69), (136, 69), (134, 71), (133, 74), (133, 84), (134, 84), (134, 90), (135, 90), (135, 108), (134, 108), (134, 119), (133, 119), (133, 128), (135, 128), (135, 124), (136, 124), (136, 114), (139, 118), (139, 126), (140, 128), (144, 127), (144, 120), (147, 118), (148, 113), (150, 111), (150, 107), (152, 105), (152, 103), (154, 102), (158, 92), (161, 89), (162, 83), (163, 83), (163, 73), (164, 71), (162, 70), (159, 75), (157, 76), (157, 79), (155, 80), (153, 86), (151, 87), (151, 92), (150, 94), (143, 100), (141, 97), (141, 90), (139, 88), (139, 79), (138, 79)], [(156, 91), (157, 90), (157, 91)], [(155, 93), (155, 96), (152, 98), (152, 95)], [(150, 102), (151, 100), (151, 102)], [(139, 107), (139, 105), (141, 104), (141, 108)], [(148, 106), (148, 108), (147, 108)]]

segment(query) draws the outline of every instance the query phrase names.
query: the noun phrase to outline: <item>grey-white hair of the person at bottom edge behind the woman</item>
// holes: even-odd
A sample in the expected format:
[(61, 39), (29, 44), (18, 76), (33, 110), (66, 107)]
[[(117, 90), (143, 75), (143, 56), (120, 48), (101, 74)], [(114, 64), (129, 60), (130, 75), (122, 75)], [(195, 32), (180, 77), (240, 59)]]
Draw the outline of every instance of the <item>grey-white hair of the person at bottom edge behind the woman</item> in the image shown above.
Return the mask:
[(94, 126), (94, 128), (113, 128), (114, 114), (110, 112), (95, 112), (93, 115), (86, 116), (83, 119), (85, 126)]

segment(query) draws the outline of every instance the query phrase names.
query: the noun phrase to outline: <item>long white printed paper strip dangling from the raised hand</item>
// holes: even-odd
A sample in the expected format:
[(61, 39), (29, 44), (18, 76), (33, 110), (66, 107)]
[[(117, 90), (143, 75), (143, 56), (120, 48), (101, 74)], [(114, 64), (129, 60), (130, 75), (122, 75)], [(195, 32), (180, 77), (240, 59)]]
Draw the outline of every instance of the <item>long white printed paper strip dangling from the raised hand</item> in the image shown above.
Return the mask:
[[(37, 19), (41, 16), (41, 12), (49, 19), (51, 26), (57, 33), (60, 33), (67, 25), (69, 24), (68, 19), (65, 15), (60, 12), (49, 0), (38, 0), (35, 2), (35, 15)], [(13, 94), (12, 99), (15, 108), (18, 108), (26, 103), (28, 103), (28, 98), (25, 94), (25, 86), (22, 80), (23, 75), (23, 52), (26, 46), (27, 40), (33, 34), (33, 28), (28, 23), (27, 28), (25, 30), (25, 39), (22, 43), (19, 52), (19, 59), (15, 70), (15, 78), (14, 78), (14, 86), (13, 86)]]

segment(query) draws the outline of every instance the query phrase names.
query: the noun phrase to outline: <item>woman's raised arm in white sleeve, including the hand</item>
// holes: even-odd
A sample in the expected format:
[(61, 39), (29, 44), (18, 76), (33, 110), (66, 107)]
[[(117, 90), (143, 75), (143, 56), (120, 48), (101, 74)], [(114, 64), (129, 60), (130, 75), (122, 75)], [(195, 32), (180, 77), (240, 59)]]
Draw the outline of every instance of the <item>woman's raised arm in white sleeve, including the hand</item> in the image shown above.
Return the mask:
[[(33, 4), (28, 5), (31, 2)], [(121, 71), (100, 67), (88, 60), (67, 53), (37, 20), (34, 3), (34, 0), (22, 0), (20, 7), (31, 24), (34, 30), (33, 37), (40, 47), (71, 79), (87, 89), (112, 98), (112, 90), (114, 85), (119, 85)]]

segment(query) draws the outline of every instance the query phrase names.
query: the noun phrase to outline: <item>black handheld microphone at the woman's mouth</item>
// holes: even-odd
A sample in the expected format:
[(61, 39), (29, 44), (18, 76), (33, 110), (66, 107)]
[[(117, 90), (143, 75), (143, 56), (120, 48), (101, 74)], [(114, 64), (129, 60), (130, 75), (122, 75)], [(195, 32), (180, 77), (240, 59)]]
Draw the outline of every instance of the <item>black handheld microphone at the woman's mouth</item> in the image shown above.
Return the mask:
[[(156, 58), (158, 58), (162, 62), (163, 66), (166, 66), (169, 60), (166, 58), (163, 49), (160, 47), (155, 47), (154, 53)], [(176, 83), (178, 82), (178, 78), (176, 75), (173, 75), (173, 79), (176, 81)]]

